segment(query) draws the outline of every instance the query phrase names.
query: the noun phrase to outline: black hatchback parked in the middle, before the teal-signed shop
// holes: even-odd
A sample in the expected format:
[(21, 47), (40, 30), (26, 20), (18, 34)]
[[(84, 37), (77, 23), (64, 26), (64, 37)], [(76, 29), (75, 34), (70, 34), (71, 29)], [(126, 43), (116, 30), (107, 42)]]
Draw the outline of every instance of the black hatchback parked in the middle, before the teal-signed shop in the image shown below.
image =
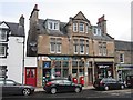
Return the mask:
[(68, 91), (80, 92), (82, 90), (82, 86), (69, 81), (68, 79), (53, 79), (48, 81), (43, 87), (43, 89), (47, 92), (54, 94), (57, 92), (68, 92)]

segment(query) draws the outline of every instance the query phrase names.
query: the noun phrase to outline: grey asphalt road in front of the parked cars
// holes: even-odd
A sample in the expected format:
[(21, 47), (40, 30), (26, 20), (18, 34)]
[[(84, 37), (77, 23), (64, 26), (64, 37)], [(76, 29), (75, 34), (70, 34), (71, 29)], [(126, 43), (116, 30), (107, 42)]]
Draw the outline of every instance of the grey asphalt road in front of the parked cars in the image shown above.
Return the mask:
[[(75, 93), (75, 92), (64, 92), (64, 93), (57, 93), (57, 94), (50, 94), (47, 93), (45, 91), (38, 91), (34, 92), (31, 96), (24, 97), (24, 96), (4, 96), (4, 99), (8, 98), (23, 98), (23, 99), (60, 99), (60, 98), (64, 98), (63, 100), (65, 100), (65, 98), (125, 98), (126, 100), (129, 98), (133, 98), (133, 89), (124, 89), (124, 90), (109, 90), (109, 91), (98, 91), (95, 89), (85, 89), (82, 90), (82, 92), (80, 93)], [(112, 99), (114, 100), (114, 99)]]

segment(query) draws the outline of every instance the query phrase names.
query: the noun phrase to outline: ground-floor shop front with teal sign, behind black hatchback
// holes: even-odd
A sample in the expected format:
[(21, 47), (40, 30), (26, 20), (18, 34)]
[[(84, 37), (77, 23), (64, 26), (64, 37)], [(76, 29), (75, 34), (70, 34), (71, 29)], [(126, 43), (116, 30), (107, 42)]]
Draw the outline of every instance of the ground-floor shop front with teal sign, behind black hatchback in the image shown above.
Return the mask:
[[(88, 61), (89, 62), (89, 61)], [(86, 61), (78, 57), (41, 57), (42, 86), (49, 79), (68, 78), (76, 79), (78, 83), (92, 83), (92, 69), (86, 67)]]

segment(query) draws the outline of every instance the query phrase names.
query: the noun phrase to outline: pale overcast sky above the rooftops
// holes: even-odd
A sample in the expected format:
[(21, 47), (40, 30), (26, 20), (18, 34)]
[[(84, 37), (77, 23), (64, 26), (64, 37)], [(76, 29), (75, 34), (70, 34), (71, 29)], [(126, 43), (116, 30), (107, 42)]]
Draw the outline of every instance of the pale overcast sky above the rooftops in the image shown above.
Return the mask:
[(98, 18), (105, 16), (108, 34), (115, 40), (131, 40), (131, 2), (132, 0), (0, 0), (0, 21), (19, 22), (21, 14), (25, 18), (25, 34), (29, 18), (34, 4), (39, 8), (39, 19), (55, 19), (69, 22), (82, 11), (92, 26)]

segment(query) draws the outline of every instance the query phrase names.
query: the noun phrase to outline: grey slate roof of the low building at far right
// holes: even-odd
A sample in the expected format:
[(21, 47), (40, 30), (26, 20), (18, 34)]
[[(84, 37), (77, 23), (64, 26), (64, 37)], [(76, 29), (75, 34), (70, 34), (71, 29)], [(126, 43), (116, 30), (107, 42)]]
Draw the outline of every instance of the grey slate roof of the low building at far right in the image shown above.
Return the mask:
[(133, 47), (130, 41), (115, 40), (114, 43), (116, 50), (131, 50), (131, 47)]

